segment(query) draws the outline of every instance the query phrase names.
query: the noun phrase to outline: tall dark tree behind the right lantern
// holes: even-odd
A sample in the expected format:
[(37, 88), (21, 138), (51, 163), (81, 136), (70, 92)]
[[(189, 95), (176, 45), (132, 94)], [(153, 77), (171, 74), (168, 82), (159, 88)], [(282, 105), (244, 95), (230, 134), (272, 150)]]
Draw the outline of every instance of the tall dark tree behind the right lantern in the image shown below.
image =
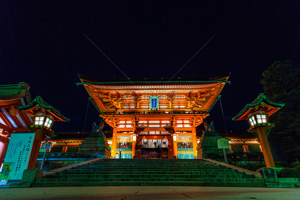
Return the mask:
[(271, 134), (283, 143), (289, 160), (300, 159), (300, 69), (292, 61), (277, 61), (264, 71), (261, 83), (265, 95), (276, 103), (285, 103), (270, 116)]

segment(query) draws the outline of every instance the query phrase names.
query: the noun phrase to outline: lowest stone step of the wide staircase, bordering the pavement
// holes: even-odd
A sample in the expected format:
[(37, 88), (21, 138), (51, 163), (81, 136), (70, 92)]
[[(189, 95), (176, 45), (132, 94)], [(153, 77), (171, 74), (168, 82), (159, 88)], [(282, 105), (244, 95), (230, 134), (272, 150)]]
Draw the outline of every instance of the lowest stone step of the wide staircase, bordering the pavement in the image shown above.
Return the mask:
[(256, 182), (183, 182), (183, 181), (100, 181), (100, 182), (36, 182), (32, 187), (88, 187), (88, 186), (202, 186), (202, 187), (266, 187)]

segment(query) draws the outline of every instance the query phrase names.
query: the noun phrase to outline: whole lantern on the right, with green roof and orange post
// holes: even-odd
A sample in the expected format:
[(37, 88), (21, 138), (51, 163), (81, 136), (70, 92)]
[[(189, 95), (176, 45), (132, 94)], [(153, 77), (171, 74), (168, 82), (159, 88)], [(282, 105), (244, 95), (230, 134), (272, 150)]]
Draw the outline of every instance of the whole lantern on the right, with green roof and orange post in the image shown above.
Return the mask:
[(238, 115), (232, 118), (232, 120), (247, 120), (250, 125), (248, 132), (258, 137), (267, 167), (275, 167), (268, 142), (268, 135), (274, 124), (269, 123), (268, 117), (283, 106), (284, 104), (272, 102), (262, 93), (252, 103), (247, 104)]

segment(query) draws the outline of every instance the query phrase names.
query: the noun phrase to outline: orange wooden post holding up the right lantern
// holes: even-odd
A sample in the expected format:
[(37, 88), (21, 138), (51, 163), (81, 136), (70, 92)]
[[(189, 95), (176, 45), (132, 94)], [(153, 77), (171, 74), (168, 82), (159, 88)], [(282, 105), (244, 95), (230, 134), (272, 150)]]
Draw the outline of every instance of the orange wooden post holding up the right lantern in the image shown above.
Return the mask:
[[(260, 142), (260, 145), (262, 147), (262, 153), (263, 153), (263, 157), (265, 159), (265, 165), (267, 167), (275, 167), (275, 163), (273, 160), (273, 156), (270, 150), (270, 146), (269, 146), (269, 142), (268, 142), (268, 138), (267, 135), (265, 133), (265, 130), (268, 129), (270, 127), (258, 127), (256, 133), (258, 135), (258, 139)], [(260, 135), (261, 133), (261, 135)]]

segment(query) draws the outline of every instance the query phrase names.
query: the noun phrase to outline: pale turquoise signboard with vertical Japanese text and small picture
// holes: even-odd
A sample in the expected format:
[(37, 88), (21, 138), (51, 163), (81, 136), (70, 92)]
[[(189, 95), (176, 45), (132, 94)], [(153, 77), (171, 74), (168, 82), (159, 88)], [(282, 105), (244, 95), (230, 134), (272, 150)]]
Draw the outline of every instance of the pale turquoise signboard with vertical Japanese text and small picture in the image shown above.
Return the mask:
[(4, 158), (0, 180), (20, 180), (27, 169), (35, 133), (12, 133)]

